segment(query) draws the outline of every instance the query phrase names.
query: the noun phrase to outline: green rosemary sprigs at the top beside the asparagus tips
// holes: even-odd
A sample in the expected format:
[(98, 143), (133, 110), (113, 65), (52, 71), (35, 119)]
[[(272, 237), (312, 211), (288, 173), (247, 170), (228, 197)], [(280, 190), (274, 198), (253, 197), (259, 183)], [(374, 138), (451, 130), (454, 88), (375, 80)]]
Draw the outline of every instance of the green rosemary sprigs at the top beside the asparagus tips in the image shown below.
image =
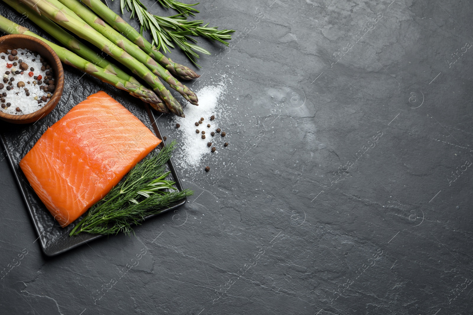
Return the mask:
[(203, 20), (188, 21), (189, 15), (195, 16), (193, 12), (195, 4), (184, 4), (174, 0), (158, 0), (165, 8), (173, 8), (179, 14), (170, 17), (160, 17), (148, 12), (140, 0), (120, 0), (122, 14), (124, 9), (131, 12), (131, 18), (138, 17), (140, 22), (140, 33), (148, 31), (151, 34), (152, 44), (157, 50), (162, 49), (165, 53), (171, 52), (171, 48), (179, 47), (185, 55), (198, 67), (198, 52), (210, 55), (210, 51), (196, 45), (197, 40), (191, 36), (202, 36), (211, 41), (218, 41), (228, 46), (225, 40), (231, 39), (234, 30), (218, 30), (218, 27), (208, 27), (209, 23), (203, 25)]

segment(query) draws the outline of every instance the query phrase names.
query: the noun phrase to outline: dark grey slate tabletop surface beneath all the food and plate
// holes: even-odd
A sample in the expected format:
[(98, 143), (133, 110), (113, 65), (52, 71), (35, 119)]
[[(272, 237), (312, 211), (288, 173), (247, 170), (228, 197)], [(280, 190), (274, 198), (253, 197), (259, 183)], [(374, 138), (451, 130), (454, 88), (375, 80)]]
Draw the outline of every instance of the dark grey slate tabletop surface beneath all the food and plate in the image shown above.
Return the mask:
[[(214, 54), (188, 85), (234, 78), (232, 145), (205, 162), (210, 173), (184, 178), (190, 203), (136, 238), (54, 258), (41, 254), (0, 162), (1, 268), (27, 250), (0, 280), (0, 313), (470, 314), (471, 4), (208, 0), (200, 9), (237, 31), (229, 51), (206, 45)], [(67, 69), (68, 82), (79, 77)], [(81, 86), (103, 88), (89, 77)], [(170, 118), (159, 124), (179, 137)]]

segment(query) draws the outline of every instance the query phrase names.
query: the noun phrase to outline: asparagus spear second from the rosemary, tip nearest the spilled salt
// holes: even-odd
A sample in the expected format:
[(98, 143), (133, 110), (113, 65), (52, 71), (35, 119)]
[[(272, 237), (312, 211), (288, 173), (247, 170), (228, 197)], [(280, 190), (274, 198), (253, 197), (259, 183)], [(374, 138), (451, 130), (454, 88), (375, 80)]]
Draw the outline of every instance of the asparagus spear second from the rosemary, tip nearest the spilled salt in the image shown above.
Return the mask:
[(150, 56), (140, 49), (136, 44), (131, 43), (125, 36), (115, 31), (111, 26), (106, 24), (100, 17), (97, 17), (92, 11), (84, 6), (79, 0), (49, 0), (58, 9), (64, 10), (70, 15), (77, 14), (89, 26), (92, 26), (97, 32), (104, 35), (106, 38), (128, 52), (133, 58), (143, 63), (155, 75), (166, 81), (167, 84), (184, 98), (194, 104), (198, 104), (197, 95), (192, 92), (187, 86), (175, 79), (169, 71), (157, 64)]

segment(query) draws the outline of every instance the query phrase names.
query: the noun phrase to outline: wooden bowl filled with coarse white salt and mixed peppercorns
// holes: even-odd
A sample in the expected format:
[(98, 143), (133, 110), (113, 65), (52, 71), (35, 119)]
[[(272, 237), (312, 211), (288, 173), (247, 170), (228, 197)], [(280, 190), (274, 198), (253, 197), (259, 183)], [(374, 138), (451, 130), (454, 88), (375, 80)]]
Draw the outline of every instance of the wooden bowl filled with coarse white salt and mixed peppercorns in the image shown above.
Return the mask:
[[(17, 50), (18, 59), (8, 59), (9, 55), (12, 55), (12, 50)], [(5, 35), (0, 37), (0, 58), (0, 84), (3, 85), (3, 88), (0, 89), (0, 103), (9, 103), (9, 106), (3, 105), (0, 108), (0, 119), (14, 124), (27, 124), (49, 114), (61, 99), (64, 88), (64, 70), (62, 69), (61, 60), (59, 60), (53, 49), (32, 36)], [(49, 65), (49, 69), (42, 68), (43, 64), (38, 58), (44, 60), (44, 63)], [(19, 59), (26, 63), (27, 69), (26, 65), (18, 63)], [(14, 66), (14, 62), (17, 66)], [(25, 70), (20, 66), (23, 66)], [(31, 68), (34, 71), (31, 71)], [(12, 74), (13, 69), (20, 71), (20, 73)], [(47, 71), (50, 71), (50, 76), (52, 76), (53, 92), (49, 92), (49, 90), (44, 92), (44, 86), (48, 86), (46, 83), (49, 83), (50, 80), (46, 75)], [(8, 75), (7, 72), (9, 72)], [(30, 72), (33, 72), (32, 77), (29, 76)], [(43, 89), (40, 89), (40, 85), (37, 84), (40, 81), (38, 79), (39, 75), (42, 76), (41, 81), (44, 79)], [(13, 80), (11, 80), (12, 78)], [(10, 90), (7, 90), (7, 86), (10, 86)], [(49, 97), (48, 93), (50, 94)]]

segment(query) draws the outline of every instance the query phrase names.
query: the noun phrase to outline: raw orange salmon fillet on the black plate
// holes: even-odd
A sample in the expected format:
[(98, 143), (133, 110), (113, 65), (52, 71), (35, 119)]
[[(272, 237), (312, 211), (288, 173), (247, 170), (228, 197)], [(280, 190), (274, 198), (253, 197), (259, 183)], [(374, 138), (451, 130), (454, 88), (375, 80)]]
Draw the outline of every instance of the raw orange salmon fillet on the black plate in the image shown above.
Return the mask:
[(66, 227), (160, 142), (140, 119), (100, 91), (48, 128), (20, 167), (54, 219)]

